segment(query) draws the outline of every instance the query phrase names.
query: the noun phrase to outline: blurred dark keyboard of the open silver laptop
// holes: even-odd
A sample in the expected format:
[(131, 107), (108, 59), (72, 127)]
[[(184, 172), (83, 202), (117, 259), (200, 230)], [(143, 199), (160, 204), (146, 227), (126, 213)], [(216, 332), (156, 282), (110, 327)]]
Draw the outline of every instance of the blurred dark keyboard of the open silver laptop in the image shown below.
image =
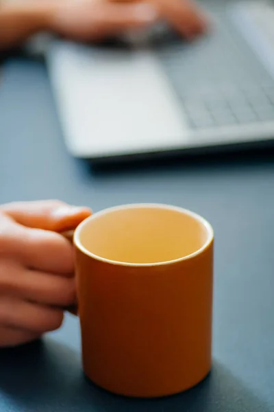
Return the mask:
[(274, 82), (223, 14), (212, 33), (156, 48), (190, 128), (274, 122)]

